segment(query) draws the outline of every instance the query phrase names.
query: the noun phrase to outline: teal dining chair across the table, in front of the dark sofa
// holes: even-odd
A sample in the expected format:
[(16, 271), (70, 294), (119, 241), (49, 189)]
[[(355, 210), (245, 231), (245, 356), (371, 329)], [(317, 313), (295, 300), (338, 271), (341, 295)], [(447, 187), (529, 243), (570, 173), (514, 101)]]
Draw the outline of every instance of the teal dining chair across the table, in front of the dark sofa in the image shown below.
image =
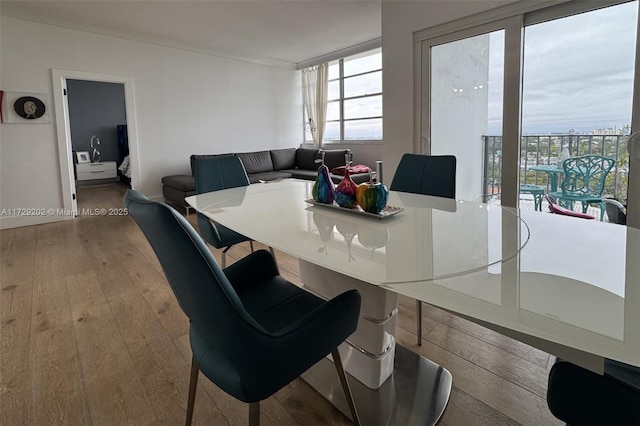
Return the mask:
[[(249, 177), (240, 158), (234, 155), (196, 158), (193, 161), (196, 193), (220, 191), (222, 189), (249, 186)], [(249, 242), (253, 252), (253, 241), (225, 226), (197, 213), (198, 230), (202, 238), (213, 247), (222, 249), (222, 267), (227, 266), (227, 251), (235, 244)], [(273, 255), (273, 251), (271, 252)]]

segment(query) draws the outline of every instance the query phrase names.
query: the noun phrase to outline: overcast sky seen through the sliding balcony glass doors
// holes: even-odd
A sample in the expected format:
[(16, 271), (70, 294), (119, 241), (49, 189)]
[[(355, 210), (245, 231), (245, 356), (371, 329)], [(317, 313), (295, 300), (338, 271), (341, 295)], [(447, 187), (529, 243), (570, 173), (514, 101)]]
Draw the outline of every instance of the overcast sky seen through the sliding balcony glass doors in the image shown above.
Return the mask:
[[(589, 132), (631, 122), (637, 2), (525, 29), (522, 131)], [(501, 52), (501, 43), (491, 52)], [(491, 61), (501, 79), (503, 61)], [(490, 92), (489, 128), (500, 131), (501, 90)]]

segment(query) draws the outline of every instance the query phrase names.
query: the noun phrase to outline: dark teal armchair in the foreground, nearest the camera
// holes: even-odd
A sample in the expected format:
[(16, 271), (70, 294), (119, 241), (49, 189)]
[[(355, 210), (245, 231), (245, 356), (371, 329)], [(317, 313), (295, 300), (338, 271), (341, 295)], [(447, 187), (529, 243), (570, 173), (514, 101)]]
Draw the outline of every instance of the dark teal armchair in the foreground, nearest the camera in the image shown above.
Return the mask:
[(224, 392), (249, 403), (253, 426), (260, 422), (260, 401), (328, 354), (352, 419), (359, 424), (337, 349), (356, 330), (357, 290), (325, 301), (282, 278), (266, 250), (222, 269), (191, 224), (172, 207), (134, 190), (125, 193), (124, 205), (189, 318), (193, 356), (187, 426), (200, 372)]

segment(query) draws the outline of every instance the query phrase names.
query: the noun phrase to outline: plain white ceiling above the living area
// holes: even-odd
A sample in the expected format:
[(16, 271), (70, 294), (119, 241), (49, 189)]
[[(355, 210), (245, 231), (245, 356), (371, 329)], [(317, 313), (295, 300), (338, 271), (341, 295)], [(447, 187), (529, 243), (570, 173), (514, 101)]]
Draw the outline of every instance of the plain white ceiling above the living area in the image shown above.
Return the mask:
[(380, 0), (4, 1), (0, 14), (283, 67), (378, 39)]

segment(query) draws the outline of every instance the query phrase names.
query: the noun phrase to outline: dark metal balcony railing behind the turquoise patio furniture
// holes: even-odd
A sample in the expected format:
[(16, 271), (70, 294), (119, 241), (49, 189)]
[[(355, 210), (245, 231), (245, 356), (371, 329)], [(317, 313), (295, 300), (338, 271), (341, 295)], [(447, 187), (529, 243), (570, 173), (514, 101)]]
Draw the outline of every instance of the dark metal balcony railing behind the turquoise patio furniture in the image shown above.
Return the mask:
[[(627, 135), (527, 135), (520, 139), (520, 184), (546, 186), (547, 173), (529, 170), (529, 166), (557, 164), (563, 148), (569, 155), (597, 154), (613, 158), (615, 166), (607, 175), (604, 195), (627, 199), (629, 154)], [(499, 197), (502, 188), (502, 136), (482, 136), (484, 147), (483, 201)]]

